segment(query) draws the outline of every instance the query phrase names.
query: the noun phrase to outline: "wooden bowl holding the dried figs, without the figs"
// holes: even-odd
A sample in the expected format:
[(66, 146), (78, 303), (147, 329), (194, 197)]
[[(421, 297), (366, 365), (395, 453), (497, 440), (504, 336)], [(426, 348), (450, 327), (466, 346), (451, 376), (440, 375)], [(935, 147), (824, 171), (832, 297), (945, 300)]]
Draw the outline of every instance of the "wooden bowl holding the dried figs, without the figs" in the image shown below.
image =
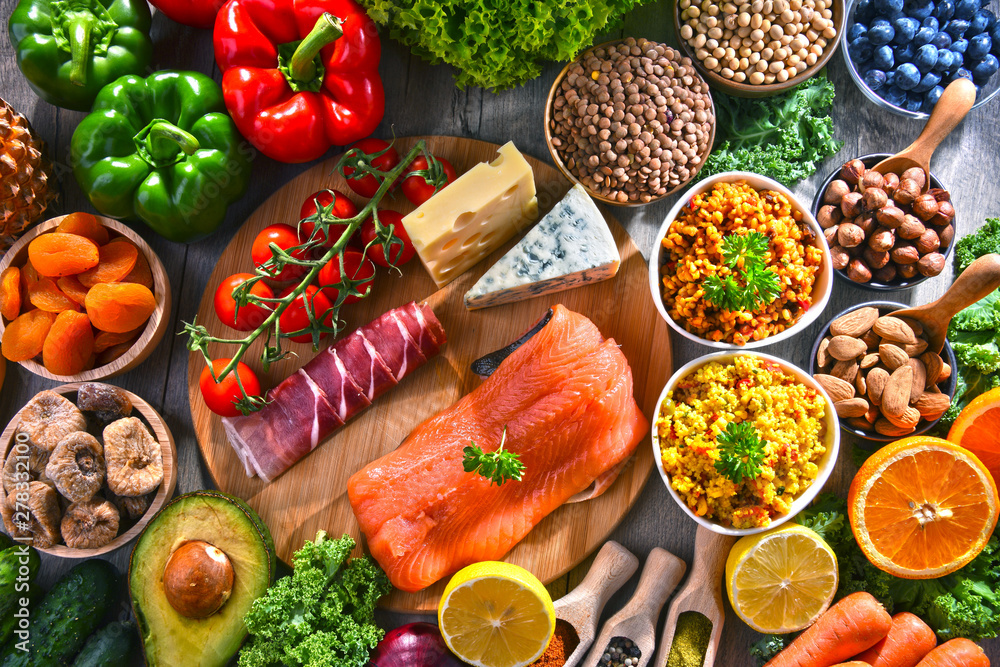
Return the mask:
[[(57, 394), (62, 394), (71, 401), (76, 400), (76, 390), (80, 388), (83, 382), (73, 382), (71, 384), (64, 384), (59, 387), (55, 387), (52, 391)], [(122, 390), (125, 391), (125, 390)], [(132, 416), (141, 417), (146, 423), (146, 426), (150, 428), (150, 432), (156, 441), (160, 443), (160, 451), (163, 456), (163, 482), (160, 483), (160, 488), (156, 491), (156, 496), (153, 498), (153, 502), (149, 505), (149, 509), (146, 513), (142, 515), (135, 525), (129, 528), (124, 533), (119, 534), (115, 539), (111, 540), (103, 547), (98, 547), (96, 549), (72, 549), (65, 544), (57, 544), (54, 547), (48, 549), (42, 549), (41, 547), (35, 547), (42, 553), (50, 554), (52, 556), (59, 556), (61, 558), (93, 558), (94, 556), (100, 556), (120, 547), (125, 546), (131, 542), (134, 538), (139, 536), (142, 529), (146, 527), (153, 515), (156, 514), (161, 507), (174, 495), (174, 489), (177, 487), (177, 447), (174, 445), (174, 436), (170, 433), (170, 429), (167, 428), (167, 423), (163, 421), (163, 417), (157, 412), (153, 406), (151, 406), (146, 401), (142, 400), (130, 391), (125, 391), (128, 395), (129, 400), (132, 401), (133, 411)], [(7, 424), (7, 428), (3, 430), (0, 434), (0, 452), (3, 453), (3, 460), (7, 460), (7, 452), (14, 445), (14, 431), (17, 428), (18, 422), (21, 420), (21, 410), (17, 411), (14, 418), (10, 420)], [(138, 414), (136, 414), (138, 413)], [(0, 498), (3, 494), (0, 492)], [(3, 500), (0, 500), (3, 502)]]

